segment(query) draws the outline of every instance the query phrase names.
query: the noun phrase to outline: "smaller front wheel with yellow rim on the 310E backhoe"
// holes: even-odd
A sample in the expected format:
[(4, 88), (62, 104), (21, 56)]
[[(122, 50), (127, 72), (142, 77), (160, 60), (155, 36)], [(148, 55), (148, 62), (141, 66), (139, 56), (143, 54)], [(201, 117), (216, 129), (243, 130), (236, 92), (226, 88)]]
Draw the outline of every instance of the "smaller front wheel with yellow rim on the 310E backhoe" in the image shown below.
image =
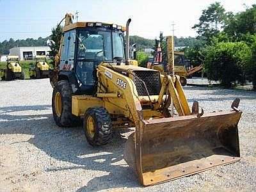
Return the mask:
[(113, 138), (111, 118), (104, 108), (88, 109), (84, 115), (83, 128), (90, 145), (106, 145)]

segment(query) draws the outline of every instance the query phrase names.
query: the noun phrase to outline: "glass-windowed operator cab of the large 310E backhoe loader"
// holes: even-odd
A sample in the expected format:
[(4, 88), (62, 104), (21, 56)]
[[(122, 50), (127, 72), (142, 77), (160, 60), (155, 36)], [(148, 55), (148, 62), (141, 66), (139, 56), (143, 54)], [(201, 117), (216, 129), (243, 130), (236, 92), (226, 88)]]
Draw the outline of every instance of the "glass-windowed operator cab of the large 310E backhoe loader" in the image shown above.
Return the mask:
[(121, 63), (125, 60), (125, 30), (122, 26), (99, 22), (77, 22), (65, 27), (60, 70), (72, 72), (80, 92), (91, 95), (97, 82), (97, 66), (102, 61)]

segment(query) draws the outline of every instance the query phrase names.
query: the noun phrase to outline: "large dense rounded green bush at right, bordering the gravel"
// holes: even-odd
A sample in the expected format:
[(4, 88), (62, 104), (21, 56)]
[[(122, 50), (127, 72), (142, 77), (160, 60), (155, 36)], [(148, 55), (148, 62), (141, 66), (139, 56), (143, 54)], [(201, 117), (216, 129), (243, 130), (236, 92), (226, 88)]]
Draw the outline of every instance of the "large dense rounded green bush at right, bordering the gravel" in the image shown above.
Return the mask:
[(220, 42), (205, 49), (205, 71), (211, 80), (220, 80), (230, 88), (233, 83), (244, 82), (252, 52), (244, 42)]

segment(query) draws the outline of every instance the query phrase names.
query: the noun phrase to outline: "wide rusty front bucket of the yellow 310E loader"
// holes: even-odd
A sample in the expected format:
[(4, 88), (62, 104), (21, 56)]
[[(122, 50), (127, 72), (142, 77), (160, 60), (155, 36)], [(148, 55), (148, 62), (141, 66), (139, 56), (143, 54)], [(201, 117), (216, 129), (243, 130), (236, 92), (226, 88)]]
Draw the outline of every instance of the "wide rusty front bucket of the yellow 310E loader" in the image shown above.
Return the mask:
[(241, 111), (142, 120), (129, 136), (125, 161), (150, 186), (239, 161)]

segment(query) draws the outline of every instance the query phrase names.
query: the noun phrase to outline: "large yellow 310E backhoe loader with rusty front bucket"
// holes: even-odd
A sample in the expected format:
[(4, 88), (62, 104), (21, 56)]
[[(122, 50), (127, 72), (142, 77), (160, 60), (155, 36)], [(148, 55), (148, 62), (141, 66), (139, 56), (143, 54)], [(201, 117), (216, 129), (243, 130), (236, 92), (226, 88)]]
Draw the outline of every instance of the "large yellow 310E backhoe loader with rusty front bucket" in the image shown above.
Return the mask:
[(83, 119), (86, 140), (93, 146), (109, 143), (113, 129), (135, 127), (124, 157), (144, 186), (239, 161), (239, 99), (228, 111), (204, 114), (198, 102), (190, 109), (173, 62), (168, 74), (160, 74), (129, 59), (131, 19), (126, 27), (73, 23), (68, 13), (64, 19), (50, 79), (57, 125), (71, 127)]

